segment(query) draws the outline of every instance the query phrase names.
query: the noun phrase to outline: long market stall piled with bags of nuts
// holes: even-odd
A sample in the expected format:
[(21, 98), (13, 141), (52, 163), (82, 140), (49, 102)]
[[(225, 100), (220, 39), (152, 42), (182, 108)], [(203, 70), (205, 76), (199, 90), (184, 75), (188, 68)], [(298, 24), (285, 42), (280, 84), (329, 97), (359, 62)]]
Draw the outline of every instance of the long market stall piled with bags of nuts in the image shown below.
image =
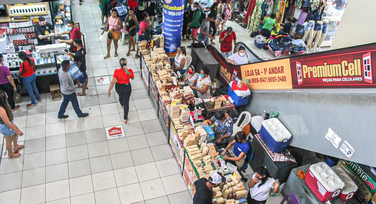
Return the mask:
[[(220, 164), (216, 162), (218, 159), (220, 161), (223, 159), (218, 156), (214, 141), (210, 142), (214, 138), (214, 132), (205, 123), (205, 118), (199, 111), (196, 115), (196, 111), (190, 110), (195, 104), (193, 90), (189, 86), (180, 87), (179, 81), (171, 76), (170, 60), (160, 46), (160, 42), (159, 46), (152, 46), (146, 41), (139, 43), (141, 78), (149, 95), (152, 93), (151, 98), (158, 104), (158, 117), (161, 113), (162, 117), (159, 118), (165, 124), (163, 128), (168, 130), (168, 143), (191, 196), (195, 193), (192, 186), (194, 181), (208, 177), (211, 172), (220, 171), (228, 179), (229, 186), (224, 187), (225, 184), (223, 184), (221, 188), (215, 189), (216, 191), (223, 190), (224, 193), (224, 195), (218, 194), (218, 203), (224, 203), (225, 199), (229, 203), (238, 203), (238, 200), (247, 194), (240, 181), (241, 177), (238, 176), (236, 167), (232, 169), (234, 171), (229, 171), (227, 165), (230, 164), (226, 164), (221, 170)], [(212, 101), (208, 99), (206, 105), (214, 105), (212, 109), (222, 108), (222, 105), (226, 106), (224, 99), (226, 99), (224, 96), (212, 98)], [(230, 105), (228, 101), (227, 106), (235, 108), (235, 105)], [(231, 189), (227, 190), (227, 188)]]

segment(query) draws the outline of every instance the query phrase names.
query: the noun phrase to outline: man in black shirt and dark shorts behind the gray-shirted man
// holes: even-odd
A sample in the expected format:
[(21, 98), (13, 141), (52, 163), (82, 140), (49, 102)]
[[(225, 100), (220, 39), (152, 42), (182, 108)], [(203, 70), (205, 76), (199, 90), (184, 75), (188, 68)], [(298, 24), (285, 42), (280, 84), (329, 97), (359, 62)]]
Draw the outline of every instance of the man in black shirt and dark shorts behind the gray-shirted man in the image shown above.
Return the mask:
[(82, 75), (78, 78), (78, 81), (82, 84), (82, 92), (77, 93), (77, 96), (86, 96), (86, 89), (88, 89), (88, 75), (86, 74), (86, 52), (82, 47), (82, 40), (76, 38), (73, 41), (73, 46), (76, 47), (76, 53), (66, 52), (71, 60), (74, 61), (82, 72)]

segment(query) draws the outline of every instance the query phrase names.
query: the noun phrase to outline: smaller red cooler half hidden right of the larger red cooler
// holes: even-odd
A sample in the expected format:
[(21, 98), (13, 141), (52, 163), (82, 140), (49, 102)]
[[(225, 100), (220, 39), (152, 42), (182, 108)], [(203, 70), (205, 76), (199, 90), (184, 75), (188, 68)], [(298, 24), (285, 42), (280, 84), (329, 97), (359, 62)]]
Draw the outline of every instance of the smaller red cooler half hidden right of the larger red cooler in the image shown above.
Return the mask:
[(355, 194), (356, 190), (358, 190), (358, 186), (354, 183), (353, 180), (341, 169), (339, 166), (333, 166), (332, 170), (335, 174), (340, 177), (340, 179), (345, 183), (345, 187), (341, 190), (340, 198), (343, 202), (349, 201), (353, 195)]

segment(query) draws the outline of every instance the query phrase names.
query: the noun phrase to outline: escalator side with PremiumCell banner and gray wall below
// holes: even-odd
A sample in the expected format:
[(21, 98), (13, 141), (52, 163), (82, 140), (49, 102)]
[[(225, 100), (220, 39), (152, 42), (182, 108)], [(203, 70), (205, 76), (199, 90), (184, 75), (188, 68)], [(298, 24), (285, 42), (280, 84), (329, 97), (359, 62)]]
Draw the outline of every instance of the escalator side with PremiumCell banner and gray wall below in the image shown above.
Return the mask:
[[(229, 64), (214, 46), (207, 49), (218, 61), (222, 84), (238, 76), (250, 88), (244, 111), (279, 111), (293, 135), (291, 146), (376, 166), (376, 43), (268, 61), (239, 46), (251, 63)], [(338, 148), (325, 138), (329, 128), (341, 137)], [(351, 155), (349, 146), (342, 147), (345, 140)]]

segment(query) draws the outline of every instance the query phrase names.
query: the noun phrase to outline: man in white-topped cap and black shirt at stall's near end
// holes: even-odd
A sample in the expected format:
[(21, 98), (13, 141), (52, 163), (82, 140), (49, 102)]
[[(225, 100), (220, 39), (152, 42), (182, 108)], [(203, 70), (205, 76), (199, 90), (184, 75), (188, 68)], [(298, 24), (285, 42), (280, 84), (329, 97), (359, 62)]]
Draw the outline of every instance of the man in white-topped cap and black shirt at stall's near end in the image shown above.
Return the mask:
[[(200, 178), (193, 183), (193, 187), (196, 188), (196, 193), (193, 197), (193, 204), (212, 204), (213, 200), (213, 187), (217, 187), (220, 183), (224, 183), (226, 178), (220, 173), (211, 173), (209, 180), (206, 178)], [(217, 202), (213, 202), (216, 204)]]

